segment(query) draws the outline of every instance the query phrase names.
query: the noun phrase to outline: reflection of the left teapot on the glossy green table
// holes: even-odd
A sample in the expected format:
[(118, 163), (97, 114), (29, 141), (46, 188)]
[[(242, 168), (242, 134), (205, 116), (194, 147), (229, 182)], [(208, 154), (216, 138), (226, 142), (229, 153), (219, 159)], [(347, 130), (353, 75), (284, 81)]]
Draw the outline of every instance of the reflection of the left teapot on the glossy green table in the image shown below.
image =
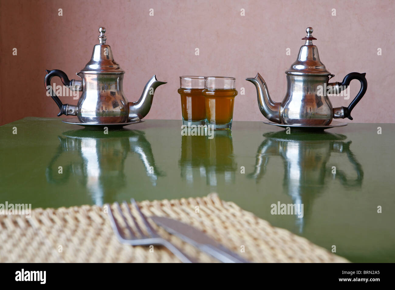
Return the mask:
[[(102, 206), (113, 201), (113, 195), (126, 185), (125, 160), (130, 152), (137, 153), (153, 186), (165, 174), (155, 164), (150, 142), (138, 130), (109, 132), (80, 129), (64, 132), (59, 147), (50, 161), (46, 176), (49, 183), (66, 183), (76, 178), (91, 193), (94, 203)], [(62, 166), (62, 174), (58, 167)], [(139, 170), (134, 165), (134, 170)]]

